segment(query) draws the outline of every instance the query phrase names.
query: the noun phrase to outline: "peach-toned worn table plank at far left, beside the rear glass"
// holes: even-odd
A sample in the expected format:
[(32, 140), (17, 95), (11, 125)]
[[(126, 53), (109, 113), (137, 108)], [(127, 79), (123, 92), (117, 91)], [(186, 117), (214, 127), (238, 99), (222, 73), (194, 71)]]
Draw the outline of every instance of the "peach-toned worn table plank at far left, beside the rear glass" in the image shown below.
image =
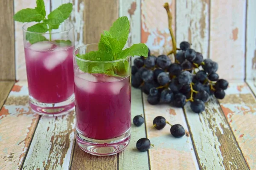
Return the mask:
[(0, 169), (20, 167), (38, 120), (28, 107), (26, 82), (17, 82), (0, 111)]

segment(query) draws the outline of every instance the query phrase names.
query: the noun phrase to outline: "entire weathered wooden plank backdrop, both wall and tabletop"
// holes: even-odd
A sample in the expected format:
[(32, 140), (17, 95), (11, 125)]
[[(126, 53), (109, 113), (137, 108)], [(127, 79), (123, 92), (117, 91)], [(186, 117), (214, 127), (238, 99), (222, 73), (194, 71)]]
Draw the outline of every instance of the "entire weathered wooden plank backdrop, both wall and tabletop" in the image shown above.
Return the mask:
[[(256, 169), (255, 0), (45, 0), (47, 12), (67, 2), (74, 4), (70, 20), (76, 26), (76, 45), (98, 42), (102, 30), (117, 17), (127, 16), (127, 46), (145, 42), (155, 55), (172, 48), (163, 8), (169, 2), (177, 43), (187, 40), (204, 58), (219, 63), (218, 74), (231, 82), (227, 96), (211, 99), (206, 111), (195, 114), (189, 105), (151, 106), (145, 94), (132, 89), (132, 117), (143, 114), (145, 126), (132, 127), (131, 144), (124, 152), (90, 156), (74, 139), (73, 112), (47, 118), (29, 109), (22, 24), (13, 22), (12, 16), (34, 7), (35, 0), (5, 0), (0, 6), (1, 170)], [(183, 125), (186, 136), (174, 139), (169, 128), (150, 129), (159, 115)], [(141, 137), (148, 137), (155, 147), (137, 152), (134, 146)]]

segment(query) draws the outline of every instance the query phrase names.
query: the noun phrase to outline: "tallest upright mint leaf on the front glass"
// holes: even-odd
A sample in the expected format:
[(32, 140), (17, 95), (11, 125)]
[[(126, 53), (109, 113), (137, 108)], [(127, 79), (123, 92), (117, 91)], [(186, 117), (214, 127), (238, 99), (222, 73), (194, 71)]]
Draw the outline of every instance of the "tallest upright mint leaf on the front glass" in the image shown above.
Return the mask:
[(118, 18), (110, 28), (110, 34), (119, 41), (121, 49), (124, 48), (129, 35), (130, 22), (127, 17)]

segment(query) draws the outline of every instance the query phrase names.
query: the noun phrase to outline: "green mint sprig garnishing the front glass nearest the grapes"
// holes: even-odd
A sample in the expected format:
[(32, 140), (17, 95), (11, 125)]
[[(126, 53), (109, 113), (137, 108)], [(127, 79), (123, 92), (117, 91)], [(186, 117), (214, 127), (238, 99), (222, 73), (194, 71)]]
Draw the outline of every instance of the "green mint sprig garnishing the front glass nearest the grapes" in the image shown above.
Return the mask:
[[(87, 54), (77, 54), (77, 57), (90, 61), (113, 61), (125, 59), (128, 56), (148, 57), (148, 47), (143, 44), (134, 44), (123, 50), (129, 35), (130, 22), (127, 17), (118, 18), (110, 28), (104, 31), (98, 43), (98, 51), (91, 51)], [(129, 63), (127, 60), (104, 64), (82, 62), (76, 59), (79, 69), (87, 73), (107, 74), (109, 76), (128, 75)]]

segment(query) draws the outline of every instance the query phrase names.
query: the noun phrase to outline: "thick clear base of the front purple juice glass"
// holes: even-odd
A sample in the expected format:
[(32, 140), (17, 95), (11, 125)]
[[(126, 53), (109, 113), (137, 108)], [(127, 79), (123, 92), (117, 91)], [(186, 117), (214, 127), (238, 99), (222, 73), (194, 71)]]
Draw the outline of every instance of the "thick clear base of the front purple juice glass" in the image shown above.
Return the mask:
[(76, 142), (81, 150), (96, 156), (110, 156), (122, 152), (128, 146), (130, 139), (131, 128), (122, 136), (105, 140), (87, 138), (76, 129)]

